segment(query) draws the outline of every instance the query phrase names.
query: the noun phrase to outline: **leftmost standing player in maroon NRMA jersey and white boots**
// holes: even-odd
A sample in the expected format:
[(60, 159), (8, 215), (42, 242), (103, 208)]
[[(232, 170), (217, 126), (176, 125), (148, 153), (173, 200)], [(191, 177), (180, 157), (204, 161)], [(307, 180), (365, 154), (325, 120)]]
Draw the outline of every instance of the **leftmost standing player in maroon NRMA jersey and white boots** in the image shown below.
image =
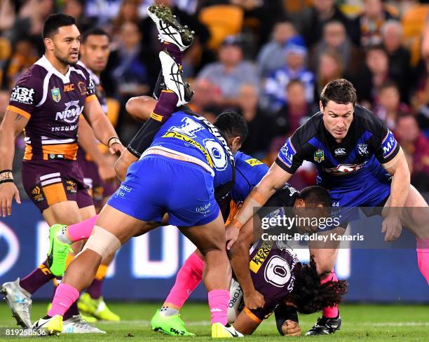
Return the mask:
[[(49, 225), (73, 224), (95, 214), (81, 168), (76, 163), (81, 114), (111, 153), (121, 153), (124, 149), (95, 96), (88, 71), (76, 64), (80, 36), (74, 18), (50, 15), (43, 25), (45, 55), (22, 74), (12, 90), (0, 128), (0, 210), (4, 216), (11, 214), (13, 197), (20, 203), (11, 167), (15, 137), (24, 128), (22, 183)], [(82, 135), (79, 142), (85, 146), (86, 136)], [(79, 248), (76, 246), (75, 250)], [(31, 326), (31, 295), (60, 275), (49, 268), (47, 260), (22, 280), (18, 278), (2, 286), (18, 324)], [(71, 324), (70, 331), (102, 332), (81, 321), (77, 306), (64, 316), (64, 323), (64, 326)]]

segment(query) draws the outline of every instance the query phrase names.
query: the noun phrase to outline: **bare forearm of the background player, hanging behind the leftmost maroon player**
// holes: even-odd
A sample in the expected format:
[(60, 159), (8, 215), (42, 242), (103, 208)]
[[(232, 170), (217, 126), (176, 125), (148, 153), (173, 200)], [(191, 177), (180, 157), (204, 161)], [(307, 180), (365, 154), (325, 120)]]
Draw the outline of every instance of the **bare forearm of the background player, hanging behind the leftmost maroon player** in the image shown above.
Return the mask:
[(113, 164), (98, 148), (97, 138), (94, 135), (93, 129), (88, 121), (81, 116), (79, 118), (79, 148), (83, 149), (93, 158), (98, 167), (98, 173), (104, 182), (113, 181), (116, 179), (116, 172)]

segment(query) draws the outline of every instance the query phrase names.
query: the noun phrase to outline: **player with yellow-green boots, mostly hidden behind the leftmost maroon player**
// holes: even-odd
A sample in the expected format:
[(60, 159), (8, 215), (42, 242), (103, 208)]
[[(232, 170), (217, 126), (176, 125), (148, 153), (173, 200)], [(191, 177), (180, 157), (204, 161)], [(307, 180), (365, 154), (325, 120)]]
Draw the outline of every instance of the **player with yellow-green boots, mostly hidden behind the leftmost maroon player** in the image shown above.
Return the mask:
[[(106, 68), (110, 54), (110, 37), (107, 32), (97, 27), (84, 32), (80, 54), (81, 60), (77, 64), (88, 70), (94, 82), (95, 95), (97, 95), (104, 114), (107, 115), (106, 92), (100, 81), (101, 73)], [(81, 118), (79, 121), (79, 136), (81, 135), (86, 135), (90, 151), (87, 151), (88, 146), (86, 149), (79, 146), (77, 161), (82, 169), (83, 180), (90, 188), (95, 211), (98, 213), (107, 199), (116, 191), (114, 159), (113, 156), (104, 153), (105, 146), (97, 141), (85, 118)], [(103, 261), (93, 283), (81, 295), (77, 304), (79, 310), (86, 315), (92, 315), (99, 320), (118, 321), (120, 317), (110, 310), (102, 297), (102, 285), (110, 262), (111, 260)]]

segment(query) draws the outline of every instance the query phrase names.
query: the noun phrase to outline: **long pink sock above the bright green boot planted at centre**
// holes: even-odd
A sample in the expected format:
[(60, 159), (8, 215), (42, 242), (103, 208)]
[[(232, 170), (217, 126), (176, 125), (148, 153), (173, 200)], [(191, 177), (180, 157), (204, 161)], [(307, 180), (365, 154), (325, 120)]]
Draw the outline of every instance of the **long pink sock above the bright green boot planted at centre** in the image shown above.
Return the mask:
[(193, 252), (184, 262), (176, 276), (175, 286), (172, 287), (165, 304), (169, 303), (175, 308), (182, 308), (189, 295), (203, 279), (204, 260)]

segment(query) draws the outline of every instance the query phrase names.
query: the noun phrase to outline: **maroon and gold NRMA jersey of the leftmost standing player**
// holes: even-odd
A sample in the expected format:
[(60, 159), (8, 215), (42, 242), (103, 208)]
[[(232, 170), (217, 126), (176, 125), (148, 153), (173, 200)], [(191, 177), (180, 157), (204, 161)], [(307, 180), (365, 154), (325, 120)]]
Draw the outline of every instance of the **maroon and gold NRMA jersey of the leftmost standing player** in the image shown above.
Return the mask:
[(57, 71), (43, 56), (15, 85), (8, 110), (29, 119), (24, 160), (76, 160), (79, 116), (87, 101), (97, 100), (88, 71), (70, 65)]

